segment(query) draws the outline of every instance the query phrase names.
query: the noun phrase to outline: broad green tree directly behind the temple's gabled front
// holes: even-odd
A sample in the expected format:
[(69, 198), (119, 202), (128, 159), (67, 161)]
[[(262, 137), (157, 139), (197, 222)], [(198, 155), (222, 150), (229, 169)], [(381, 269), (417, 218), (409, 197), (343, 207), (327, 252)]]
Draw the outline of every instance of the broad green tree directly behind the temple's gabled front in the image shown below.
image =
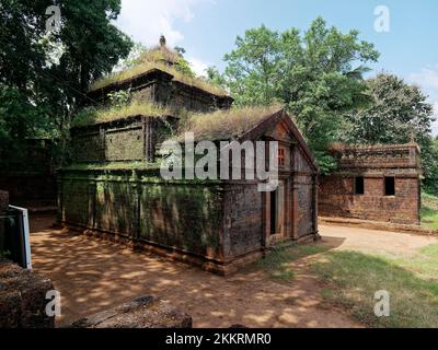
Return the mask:
[(237, 105), (284, 103), (293, 114), (323, 173), (335, 166), (326, 145), (336, 141), (344, 115), (369, 101), (362, 65), (379, 54), (358, 32), (342, 34), (316, 19), (302, 35), (265, 26), (238, 37), (226, 55), (227, 68), (215, 80), (228, 88)]

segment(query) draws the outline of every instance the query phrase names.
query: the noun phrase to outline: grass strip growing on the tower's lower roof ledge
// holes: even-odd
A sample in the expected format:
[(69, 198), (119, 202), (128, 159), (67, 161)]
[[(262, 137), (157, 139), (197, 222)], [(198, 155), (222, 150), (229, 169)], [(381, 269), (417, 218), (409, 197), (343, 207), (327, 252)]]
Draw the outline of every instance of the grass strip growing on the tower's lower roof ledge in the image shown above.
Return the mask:
[(81, 110), (73, 118), (72, 126), (87, 126), (99, 122), (106, 122), (116, 119), (143, 115), (149, 117), (161, 117), (164, 115), (170, 115), (168, 108), (161, 107), (151, 102), (137, 102), (134, 101), (127, 105), (111, 106), (95, 108), (90, 107)]

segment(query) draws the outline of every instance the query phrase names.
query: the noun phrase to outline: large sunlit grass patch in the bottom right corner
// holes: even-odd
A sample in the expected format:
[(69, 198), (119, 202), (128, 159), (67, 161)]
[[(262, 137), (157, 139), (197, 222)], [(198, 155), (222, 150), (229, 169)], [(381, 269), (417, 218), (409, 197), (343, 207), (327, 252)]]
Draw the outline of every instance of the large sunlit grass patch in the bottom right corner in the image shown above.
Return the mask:
[[(404, 258), (331, 252), (312, 268), (330, 285), (323, 298), (368, 326), (438, 327), (438, 245)], [(390, 317), (374, 315), (380, 290), (390, 293)]]

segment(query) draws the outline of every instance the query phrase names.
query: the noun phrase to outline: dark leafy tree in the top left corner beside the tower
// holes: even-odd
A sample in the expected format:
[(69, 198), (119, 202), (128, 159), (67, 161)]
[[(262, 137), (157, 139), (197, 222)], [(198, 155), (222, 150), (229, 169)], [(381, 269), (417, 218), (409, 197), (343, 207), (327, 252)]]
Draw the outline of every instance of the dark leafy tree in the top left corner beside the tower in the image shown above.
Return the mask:
[[(1, 96), (13, 96), (0, 113), (2, 141), (9, 143), (0, 144), (3, 155), (24, 136), (38, 136), (35, 124), (65, 144), (74, 109), (92, 103), (87, 97), (90, 82), (111, 72), (131, 47), (130, 39), (112, 23), (120, 11), (119, 0), (59, 0), (60, 28), (47, 33), (50, 4), (45, 0), (0, 1), (0, 90)], [(24, 115), (5, 117), (18, 108)]]

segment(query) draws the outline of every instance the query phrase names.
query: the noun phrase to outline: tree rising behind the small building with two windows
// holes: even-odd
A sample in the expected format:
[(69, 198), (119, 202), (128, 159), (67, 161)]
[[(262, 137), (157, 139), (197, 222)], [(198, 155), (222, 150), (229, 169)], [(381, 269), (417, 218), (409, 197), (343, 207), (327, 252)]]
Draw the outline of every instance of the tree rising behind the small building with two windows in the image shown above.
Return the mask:
[[(353, 143), (417, 142), (422, 149), (424, 185), (438, 189), (438, 152), (431, 137), (433, 106), (418, 86), (380, 73), (367, 80), (372, 103), (348, 116), (344, 139)], [(435, 189), (434, 189), (435, 188)]]

